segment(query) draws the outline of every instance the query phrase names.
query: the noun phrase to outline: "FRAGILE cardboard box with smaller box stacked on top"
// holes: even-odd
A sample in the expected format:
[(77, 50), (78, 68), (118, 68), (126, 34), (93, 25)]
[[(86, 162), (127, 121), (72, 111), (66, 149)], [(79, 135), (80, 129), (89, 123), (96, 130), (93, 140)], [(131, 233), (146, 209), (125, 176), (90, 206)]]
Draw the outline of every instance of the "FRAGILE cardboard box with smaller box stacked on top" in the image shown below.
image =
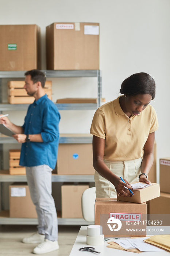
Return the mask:
[(104, 236), (146, 236), (146, 201), (160, 196), (159, 184), (135, 189), (134, 193), (132, 197), (117, 196), (117, 199), (96, 198), (95, 224), (103, 227)]

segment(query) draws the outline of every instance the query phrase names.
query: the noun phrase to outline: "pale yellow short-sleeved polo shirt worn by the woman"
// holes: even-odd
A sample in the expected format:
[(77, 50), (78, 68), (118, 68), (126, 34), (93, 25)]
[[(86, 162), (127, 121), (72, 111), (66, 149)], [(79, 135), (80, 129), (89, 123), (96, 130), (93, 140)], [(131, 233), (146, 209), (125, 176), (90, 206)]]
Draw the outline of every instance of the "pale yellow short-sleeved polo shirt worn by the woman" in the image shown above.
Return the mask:
[(129, 118), (120, 107), (121, 96), (96, 110), (90, 128), (92, 135), (105, 139), (104, 159), (108, 161), (143, 157), (148, 134), (158, 129), (157, 114), (151, 105)]

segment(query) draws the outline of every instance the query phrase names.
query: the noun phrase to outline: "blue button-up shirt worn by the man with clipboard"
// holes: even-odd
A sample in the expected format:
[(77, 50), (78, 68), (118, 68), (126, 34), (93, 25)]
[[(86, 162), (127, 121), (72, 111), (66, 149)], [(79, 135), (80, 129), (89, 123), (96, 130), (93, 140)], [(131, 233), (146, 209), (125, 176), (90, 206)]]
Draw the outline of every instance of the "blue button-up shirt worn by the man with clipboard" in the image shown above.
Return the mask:
[(22, 144), (20, 162), (22, 166), (49, 165), (55, 168), (59, 143), (60, 114), (55, 104), (44, 95), (34, 101), (27, 110), (24, 134), (41, 134), (43, 142)]

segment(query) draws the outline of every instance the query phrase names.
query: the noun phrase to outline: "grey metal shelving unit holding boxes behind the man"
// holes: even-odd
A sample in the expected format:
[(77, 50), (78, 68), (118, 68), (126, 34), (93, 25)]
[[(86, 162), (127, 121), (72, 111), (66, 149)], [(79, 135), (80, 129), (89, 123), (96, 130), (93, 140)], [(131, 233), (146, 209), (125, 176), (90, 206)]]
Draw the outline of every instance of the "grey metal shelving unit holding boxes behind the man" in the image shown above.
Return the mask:
[[(3, 111), (27, 110), (29, 104), (8, 104), (2, 102), (2, 79), (3, 78), (25, 78), (26, 71), (0, 71), (0, 113)], [(97, 78), (97, 104), (96, 103), (55, 103), (59, 110), (95, 110), (101, 104), (101, 71), (100, 70), (42, 70), (47, 78), (75, 78), (75, 77), (96, 77)], [(16, 140), (10, 137), (0, 137), (0, 169), (3, 170), (3, 144), (16, 143)], [(91, 136), (60, 136), (59, 143), (92, 143)], [(3, 194), (3, 182), (26, 182), (26, 176), (11, 176), (5, 171), (0, 172), (1, 197)], [(52, 182), (94, 182), (93, 175), (52, 175)], [(3, 209), (3, 200), (1, 200), (1, 209)], [(2, 211), (5, 212), (5, 211)], [(8, 215), (8, 214), (7, 214)], [(37, 225), (37, 219), (32, 218), (9, 218), (0, 212), (0, 224), (21, 224)], [(81, 218), (58, 218), (59, 225), (90, 225)]]

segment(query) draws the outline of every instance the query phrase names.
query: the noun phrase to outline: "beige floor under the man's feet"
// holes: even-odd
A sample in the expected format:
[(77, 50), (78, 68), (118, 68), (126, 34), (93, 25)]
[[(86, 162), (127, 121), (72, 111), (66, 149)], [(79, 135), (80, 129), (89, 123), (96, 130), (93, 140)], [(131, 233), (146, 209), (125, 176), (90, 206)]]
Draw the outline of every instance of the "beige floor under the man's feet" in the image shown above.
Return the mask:
[[(69, 256), (76, 240), (80, 226), (59, 226), (58, 243), (60, 249), (46, 253), (46, 256)], [(0, 225), (0, 256), (35, 255), (32, 249), (36, 244), (23, 244), (22, 238), (36, 231), (36, 226)]]

